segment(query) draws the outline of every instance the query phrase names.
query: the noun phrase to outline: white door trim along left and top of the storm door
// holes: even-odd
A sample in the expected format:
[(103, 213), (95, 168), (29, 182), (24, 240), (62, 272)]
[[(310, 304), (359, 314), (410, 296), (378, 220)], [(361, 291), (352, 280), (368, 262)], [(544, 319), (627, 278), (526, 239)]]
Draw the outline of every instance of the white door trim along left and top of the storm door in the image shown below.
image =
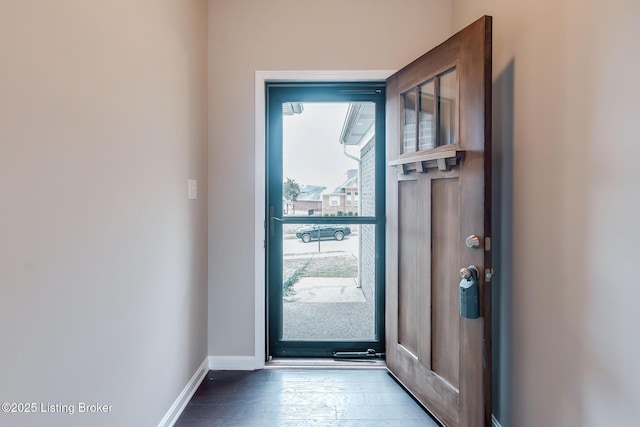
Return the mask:
[(386, 80), (396, 70), (320, 70), (320, 71), (256, 71), (255, 73), (255, 198), (254, 198), (254, 261), (255, 261), (255, 340), (254, 356), (235, 357), (227, 361), (227, 369), (261, 369), (266, 362), (266, 97), (268, 82), (370, 82)]

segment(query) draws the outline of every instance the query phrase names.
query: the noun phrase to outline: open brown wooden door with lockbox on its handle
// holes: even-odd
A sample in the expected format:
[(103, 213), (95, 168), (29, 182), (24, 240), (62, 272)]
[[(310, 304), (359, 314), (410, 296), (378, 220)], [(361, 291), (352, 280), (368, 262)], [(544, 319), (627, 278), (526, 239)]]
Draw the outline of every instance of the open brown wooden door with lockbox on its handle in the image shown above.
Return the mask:
[(389, 371), (444, 425), (491, 425), (491, 17), (387, 80)]

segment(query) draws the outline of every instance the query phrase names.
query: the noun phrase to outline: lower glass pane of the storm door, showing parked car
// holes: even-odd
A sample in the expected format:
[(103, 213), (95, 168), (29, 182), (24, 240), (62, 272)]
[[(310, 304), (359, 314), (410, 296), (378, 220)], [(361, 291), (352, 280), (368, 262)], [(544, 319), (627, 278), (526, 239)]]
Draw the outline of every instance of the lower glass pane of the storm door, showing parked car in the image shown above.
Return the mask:
[(285, 224), (282, 248), (282, 340), (377, 339), (375, 225)]

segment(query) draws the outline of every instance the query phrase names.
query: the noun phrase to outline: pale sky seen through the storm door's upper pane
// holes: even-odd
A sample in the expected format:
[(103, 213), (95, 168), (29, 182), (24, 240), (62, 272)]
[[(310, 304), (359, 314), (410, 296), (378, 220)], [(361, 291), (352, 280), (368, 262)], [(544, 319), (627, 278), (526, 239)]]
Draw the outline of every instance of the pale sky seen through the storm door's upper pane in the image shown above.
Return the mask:
[[(302, 114), (283, 116), (283, 179), (333, 189), (358, 163), (343, 154), (340, 133), (349, 103), (304, 103)], [(349, 149), (358, 157), (358, 151)]]

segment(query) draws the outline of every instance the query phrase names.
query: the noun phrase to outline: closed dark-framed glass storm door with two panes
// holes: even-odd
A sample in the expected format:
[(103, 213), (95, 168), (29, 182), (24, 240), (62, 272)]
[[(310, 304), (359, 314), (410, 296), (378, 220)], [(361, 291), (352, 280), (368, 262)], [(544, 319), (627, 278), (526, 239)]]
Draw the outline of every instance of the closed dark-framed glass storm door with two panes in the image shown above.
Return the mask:
[(384, 353), (384, 83), (269, 83), (267, 354)]

